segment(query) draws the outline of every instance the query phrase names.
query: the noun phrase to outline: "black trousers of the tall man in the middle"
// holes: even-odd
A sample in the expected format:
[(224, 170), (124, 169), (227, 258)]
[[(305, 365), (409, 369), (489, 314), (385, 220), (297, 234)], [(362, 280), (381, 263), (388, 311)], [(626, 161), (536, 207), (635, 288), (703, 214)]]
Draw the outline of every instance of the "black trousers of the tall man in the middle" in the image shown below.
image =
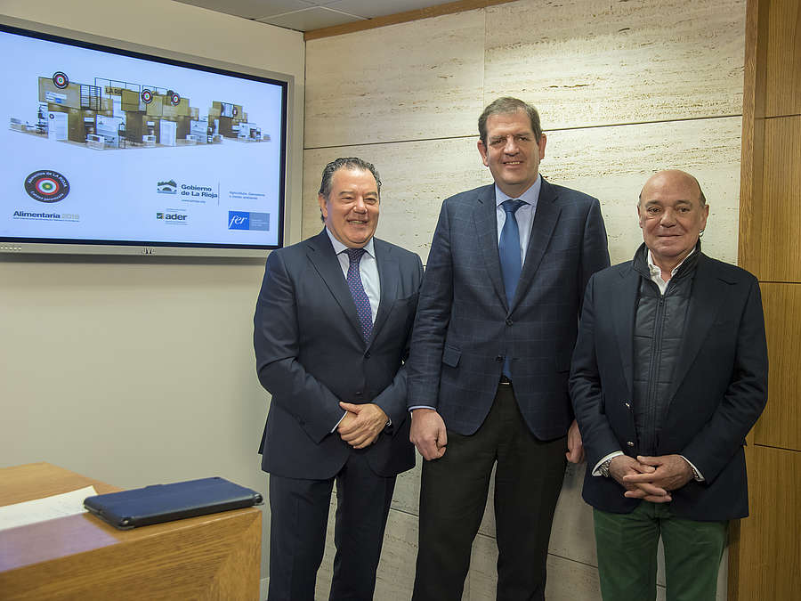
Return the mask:
[(473, 539), (495, 475), (498, 601), (544, 599), (548, 540), (564, 479), (567, 438), (540, 441), (510, 385), (471, 436), (448, 432), (441, 459), (425, 461), (414, 601), (459, 601)]

